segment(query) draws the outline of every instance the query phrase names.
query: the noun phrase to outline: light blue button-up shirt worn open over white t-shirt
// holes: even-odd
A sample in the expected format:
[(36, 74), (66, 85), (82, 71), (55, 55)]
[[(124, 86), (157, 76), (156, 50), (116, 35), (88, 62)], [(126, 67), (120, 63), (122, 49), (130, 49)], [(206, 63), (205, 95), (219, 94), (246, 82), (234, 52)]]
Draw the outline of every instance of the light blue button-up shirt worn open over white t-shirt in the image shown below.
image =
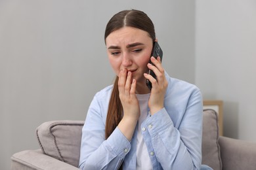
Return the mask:
[[(142, 122), (153, 169), (200, 169), (202, 161), (202, 95), (193, 84), (171, 78), (164, 108)], [(81, 138), (80, 169), (136, 169), (137, 130), (131, 142), (116, 127), (105, 140), (108, 103), (113, 86), (96, 93)], [(137, 125), (138, 126), (138, 125)], [(138, 129), (138, 128), (136, 128)]]

